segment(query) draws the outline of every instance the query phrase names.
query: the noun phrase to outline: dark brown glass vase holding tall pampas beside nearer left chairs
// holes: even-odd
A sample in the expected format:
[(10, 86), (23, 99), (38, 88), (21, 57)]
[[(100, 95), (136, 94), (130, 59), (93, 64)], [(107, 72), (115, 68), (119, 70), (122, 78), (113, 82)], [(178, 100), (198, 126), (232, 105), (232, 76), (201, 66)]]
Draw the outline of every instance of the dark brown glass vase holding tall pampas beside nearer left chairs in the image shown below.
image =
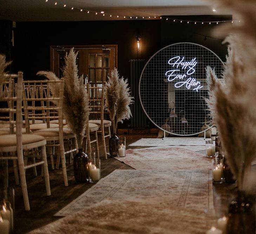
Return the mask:
[(78, 153), (74, 156), (74, 175), (78, 183), (89, 182), (89, 160), (83, 149), (78, 149)]

